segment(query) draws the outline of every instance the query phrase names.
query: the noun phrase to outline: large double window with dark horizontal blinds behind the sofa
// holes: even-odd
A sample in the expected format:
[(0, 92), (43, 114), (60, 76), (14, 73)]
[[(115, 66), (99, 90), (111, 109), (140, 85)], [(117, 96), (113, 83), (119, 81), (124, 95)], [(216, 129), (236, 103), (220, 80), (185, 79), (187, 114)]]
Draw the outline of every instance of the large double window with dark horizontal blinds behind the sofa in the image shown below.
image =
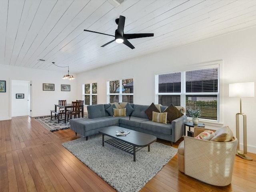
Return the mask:
[(219, 67), (156, 75), (156, 102), (200, 107), (199, 118), (219, 121)]

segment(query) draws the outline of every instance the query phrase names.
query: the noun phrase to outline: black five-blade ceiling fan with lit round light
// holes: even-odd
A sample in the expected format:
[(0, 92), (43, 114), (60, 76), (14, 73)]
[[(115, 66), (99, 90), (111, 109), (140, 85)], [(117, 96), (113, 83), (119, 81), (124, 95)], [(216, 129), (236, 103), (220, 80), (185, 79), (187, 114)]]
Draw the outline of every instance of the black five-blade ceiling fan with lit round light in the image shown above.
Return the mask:
[(105, 34), (105, 33), (96, 32), (96, 31), (85, 30), (85, 29), (84, 29), (84, 31), (115, 37), (114, 40), (102, 45), (101, 47), (104, 47), (104, 46), (116, 41), (117, 43), (123, 43), (126, 46), (130, 47), (131, 49), (134, 49), (135, 47), (128, 41), (128, 39), (135, 39), (135, 38), (142, 38), (142, 37), (153, 37), (154, 36), (154, 33), (124, 34), (124, 22), (125, 22), (125, 17), (124, 16), (120, 15), (120, 17), (116, 19), (116, 24), (118, 25), (118, 28), (115, 32), (115, 36)]

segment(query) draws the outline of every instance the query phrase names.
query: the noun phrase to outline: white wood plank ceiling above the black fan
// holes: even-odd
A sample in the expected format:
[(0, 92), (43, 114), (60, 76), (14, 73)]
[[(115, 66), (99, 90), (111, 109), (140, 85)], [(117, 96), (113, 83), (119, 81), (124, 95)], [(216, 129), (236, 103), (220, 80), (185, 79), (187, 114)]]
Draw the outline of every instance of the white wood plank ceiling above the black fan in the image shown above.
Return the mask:
[[(154, 33), (111, 44), (124, 33)], [(256, 25), (256, 0), (0, 0), (0, 64), (79, 73)], [(45, 61), (40, 61), (43, 59)]]

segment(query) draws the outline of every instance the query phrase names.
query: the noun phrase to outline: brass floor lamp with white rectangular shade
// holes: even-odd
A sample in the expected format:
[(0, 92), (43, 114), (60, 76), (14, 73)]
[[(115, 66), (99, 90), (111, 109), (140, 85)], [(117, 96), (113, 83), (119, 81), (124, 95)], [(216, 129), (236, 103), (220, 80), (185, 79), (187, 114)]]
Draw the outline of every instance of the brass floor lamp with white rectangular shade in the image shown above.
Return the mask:
[[(236, 138), (238, 140), (236, 154), (246, 160), (252, 160), (252, 158), (247, 155), (247, 122), (246, 122), (246, 114), (242, 113), (242, 97), (254, 97), (254, 82), (229, 84), (229, 96), (240, 97), (240, 113), (236, 114)], [(243, 121), (244, 121), (243, 122), (244, 152), (240, 150), (239, 115), (243, 116)]]

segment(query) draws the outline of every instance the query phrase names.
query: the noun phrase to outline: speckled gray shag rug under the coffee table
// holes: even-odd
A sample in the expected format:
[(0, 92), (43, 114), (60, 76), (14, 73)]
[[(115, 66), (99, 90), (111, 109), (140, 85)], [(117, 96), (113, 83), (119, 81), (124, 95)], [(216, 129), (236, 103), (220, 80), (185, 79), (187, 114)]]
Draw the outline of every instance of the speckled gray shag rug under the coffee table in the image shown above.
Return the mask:
[(62, 145), (118, 192), (138, 192), (177, 153), (174, 147), (154, 142), (150, 152), (147, 147), (136, 152), (134, 162), (131, 154), (108, 144), (102, 147), (100, 134)]

